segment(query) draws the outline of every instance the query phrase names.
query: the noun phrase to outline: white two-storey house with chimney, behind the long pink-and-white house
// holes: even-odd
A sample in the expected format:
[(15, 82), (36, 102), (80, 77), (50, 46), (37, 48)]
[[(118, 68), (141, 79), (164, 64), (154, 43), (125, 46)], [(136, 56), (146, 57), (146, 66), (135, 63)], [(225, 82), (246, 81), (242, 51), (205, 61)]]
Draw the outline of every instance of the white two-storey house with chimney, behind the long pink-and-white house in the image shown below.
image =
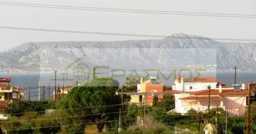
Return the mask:
[(204, 90), (209, 85), (211, 88), (216, 88), (217, 84), (218, 82), (213, 77), (197, 77), (193, 78), (193, 80), (187, 80), (181, 76), (174, 80), (172, 90), (179, 90), (183, 92), (197, 91)]

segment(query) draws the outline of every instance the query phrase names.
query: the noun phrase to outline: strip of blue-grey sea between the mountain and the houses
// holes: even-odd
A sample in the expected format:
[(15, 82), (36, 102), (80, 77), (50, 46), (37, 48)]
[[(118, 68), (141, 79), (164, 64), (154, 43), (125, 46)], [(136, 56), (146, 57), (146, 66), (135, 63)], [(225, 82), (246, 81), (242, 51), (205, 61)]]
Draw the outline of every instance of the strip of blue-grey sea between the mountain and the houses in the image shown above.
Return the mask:
[[(143, 72), (137, 72), (140, 76), (146, 76)], [(96, 77), (111, 77), (115, 78), (119, 81), (119, 84), (122, 85), (127, 76), (136, 76), (136, 73), (129, 72), (124, 75), (115, 74), (98, 74)], [(214, 77), (218, 82), (226, 83), (228, 86), (232, 86), (234, 84), (234, 71), (204, 71), (204, 72), (183, 72), (181, 74), (185, 78), (193, 78), (195, 76), (202, 76), (202, 77)], [(163, 76), (164, 75), (164, 76)], [(178, 74), (172, 75), (170, 78), (167, 76), (170, 75), (170, 72), (162, 72), (160, 75), (159, 73), (150, 74), (150, 76), (159, 76), (160, 81), (164, 82), (164, 84), (171, 86), (174, 82), (174, 79), (179, 76)], [(9, 77), (11, 78), (11, 86), (19, 86), (20, 88), (24, 88), (25, 90), (25, 98), (28, 98), (28, 92), (30, 92), (30, 99), (32, 100), (39, 100), (42, 98), (49, 98), (53, 96), (53, 91), (55, 90), (55, 72), (48, 72), (48, 73), (0, 73), (1, 77)], [(56, 74), (56, 85), (57, 88), (68, 85), (72, 82), (81, 82), (86, 83), (92, 80), (92, 75), (89, 74), (88, 76), (76, 75), (73, 73), (68, 74)], [(64, 79), (64, 80), (63, 80)], [(238, 70), (236, 72), (236, 84), (241, 83), (250, 83), (256, 80), (256, 71), (254, 70)], [(63, 84), (64, 83), (64, 84)], [(44, 86), (44, 88), (39, 88), (39, 86)], [(30, 90), (30, 91), (28, 91)]]

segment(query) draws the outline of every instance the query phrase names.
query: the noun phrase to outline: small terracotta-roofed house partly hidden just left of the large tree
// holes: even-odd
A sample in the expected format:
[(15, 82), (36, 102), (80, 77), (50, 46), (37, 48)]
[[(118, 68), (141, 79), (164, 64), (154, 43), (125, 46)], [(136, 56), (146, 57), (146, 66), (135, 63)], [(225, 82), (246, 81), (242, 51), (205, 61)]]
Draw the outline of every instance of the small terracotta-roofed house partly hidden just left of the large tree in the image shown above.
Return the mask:
[[(57, 98), (59, 98), (60, 96), (67, 96), (67, 93), (75, 86), (81, 86), (82, 84), (79, 82), (72, 82), (71, 84), (68, 84), (67, 86), (59, 86), (59, 88), (57, 89)], [(55, 91), (53, 91), (53, 96), (55, 94)], [(54, 98), (53, 98), (54, 99)]]

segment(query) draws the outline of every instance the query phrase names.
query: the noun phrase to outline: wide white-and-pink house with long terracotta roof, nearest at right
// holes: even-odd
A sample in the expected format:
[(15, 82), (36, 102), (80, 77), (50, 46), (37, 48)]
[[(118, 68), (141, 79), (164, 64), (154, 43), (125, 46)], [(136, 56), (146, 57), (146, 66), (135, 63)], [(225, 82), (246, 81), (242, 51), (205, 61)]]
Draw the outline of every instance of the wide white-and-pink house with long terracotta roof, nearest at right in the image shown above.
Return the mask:
[(177, 113), (187, 113), (190, 109), (196, 111), (207, 111), (210, 94), (210, 109), (218, 107), (232, 115), (243, 115), (247, 107), (248, 90), (245, 84), (239, 88), (226, 88), (222, 85), (218, 88), (182, 92), (174, 94), (175, 111)]

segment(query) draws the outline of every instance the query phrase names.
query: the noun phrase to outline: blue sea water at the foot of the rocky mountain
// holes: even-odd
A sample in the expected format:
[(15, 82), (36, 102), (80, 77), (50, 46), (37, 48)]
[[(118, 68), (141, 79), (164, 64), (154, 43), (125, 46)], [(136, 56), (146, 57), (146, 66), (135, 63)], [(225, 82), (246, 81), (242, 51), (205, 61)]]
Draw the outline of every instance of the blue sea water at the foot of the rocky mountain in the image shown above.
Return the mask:
[[(212, 76), (215, 77), (218, 82), (224, 82), (228, 86), (232, 86), (234, 84), (234, 71), (208, 71), (208, 72), (199, 72), (200, 76)], [(142, 72), (138, 73), (141, 76), (145, 76)], [(165, 76), (168, 76), (170, 72), (163, 72)], [(117, 75), (117, 74), (116, 74)], [(131, 75), (131, 73), (127, 73), (126, 76)], [(156, 76), (155, 74), (151, 74), (152, 76)], [(190, 76), (189, 72), (184, 72), (181, 75), (188, 77)], [(198, 74), (193, 73), (192, 76), (195, 77)], [(13, 86), (20, 86), (21, 88), (25, 89), (26, 97), (28, 97), (28, 89), (30, 89), (30, 96), (31, 98), (38, 98), (38, 79), (42, 81), (42, 84), (46, 86), (44, 92), (46, 94), (46, 98), (49, 97), (49, 95), (53, 96), (54, 86), (55, 86), (55, 73), (0, 73), (0, 76), (10, 77), (11, 78), (11, 85)], [(97, 78), (100, 77), (109, 77), (111, 75), (101, 74), (97, 75)], [(134, 75), (133, 75), (134, 76)], [(178, 76), (178, 74), (176, 75)], [(172, 76), (173, 77), (173, 76)], [(116, 76), (114, 77), (119, 81), (120, 84), (123, 84), (125, 82), (125, 76)], [(160, 80), (161, 80), (160, 76)], [(50, 80), (52, 79), (52, 80)], [(63, 74), (57, 73), (57, 79), (63, 79)], [(67, 76), (65, 76), (64, 79), (72, 79), (72, 80), (65, 80), (64, 85), (70, 84), (71, 82), (75, 82), (78, 80), (79, 82), (87, 82), (86, 81), (80, 81), (77, 79), (74, 74), (70, 73)], [(92, 75), (89, 76), (89, 79), (92, 80)], [(249, 83), (251, 81), (256, 80), (256, 71), (237, 71), (236, 75), (236, 83)], [(168, 80), (163, 79), (162, 80), (164, 84), (168, 84), (168, 86), (171, 86), (171, 84), (174, 82), (174, 78), (170, 78)], [(57, 86), (63, 86), (63, 80), (57, 80)], [(42, 86), (41, 84), (41, 86)], [(50, 87), (50, 88), (49, 88)], [(50, 89), (50, 90), (49, 90)], [(40, 90), (40, 96), (42, 95), (42, 88)], [(50, 92), (50, 94), (49, 94)]]

